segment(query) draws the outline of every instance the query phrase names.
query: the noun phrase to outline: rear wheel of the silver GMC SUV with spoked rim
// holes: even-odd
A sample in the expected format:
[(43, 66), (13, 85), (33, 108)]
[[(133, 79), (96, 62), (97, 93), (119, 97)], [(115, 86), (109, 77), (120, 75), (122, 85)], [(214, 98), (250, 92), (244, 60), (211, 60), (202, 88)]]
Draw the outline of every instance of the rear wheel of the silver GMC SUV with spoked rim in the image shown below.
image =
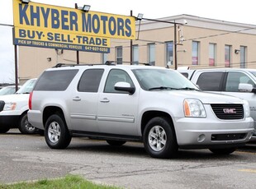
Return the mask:
[(64, 118), (54, 114), (45, 123), (45, 141), (51, 149), (65, 149), (71, 141)]

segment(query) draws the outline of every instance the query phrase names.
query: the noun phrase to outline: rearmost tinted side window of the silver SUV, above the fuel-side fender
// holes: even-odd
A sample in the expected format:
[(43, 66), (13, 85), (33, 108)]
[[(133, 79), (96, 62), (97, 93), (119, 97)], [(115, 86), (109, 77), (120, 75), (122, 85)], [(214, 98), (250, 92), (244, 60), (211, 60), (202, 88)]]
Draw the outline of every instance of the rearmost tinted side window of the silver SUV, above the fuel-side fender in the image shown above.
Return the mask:
[(78, 70), (45, 71), (34, 90), (66, 90), (77, 73)]

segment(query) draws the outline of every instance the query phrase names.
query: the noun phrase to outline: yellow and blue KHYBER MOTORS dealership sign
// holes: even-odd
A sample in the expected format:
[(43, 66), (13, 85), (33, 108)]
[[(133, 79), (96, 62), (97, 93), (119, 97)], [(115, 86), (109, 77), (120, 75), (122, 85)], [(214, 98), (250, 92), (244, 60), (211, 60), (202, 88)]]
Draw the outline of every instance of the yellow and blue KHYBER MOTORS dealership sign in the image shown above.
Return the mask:
[(110, 39), (135, 39), (135, 18), (13, 0), (14, 44), (97, 53)]

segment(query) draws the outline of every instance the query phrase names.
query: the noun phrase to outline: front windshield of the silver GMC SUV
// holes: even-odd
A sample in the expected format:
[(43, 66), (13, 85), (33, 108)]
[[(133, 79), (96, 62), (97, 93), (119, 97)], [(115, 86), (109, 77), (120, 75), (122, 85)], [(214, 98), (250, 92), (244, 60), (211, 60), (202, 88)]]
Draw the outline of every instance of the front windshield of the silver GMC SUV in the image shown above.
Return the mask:
[(135, 69), (133, 72), (144, 90), (198, 90), (196, 85), (177, 71)]

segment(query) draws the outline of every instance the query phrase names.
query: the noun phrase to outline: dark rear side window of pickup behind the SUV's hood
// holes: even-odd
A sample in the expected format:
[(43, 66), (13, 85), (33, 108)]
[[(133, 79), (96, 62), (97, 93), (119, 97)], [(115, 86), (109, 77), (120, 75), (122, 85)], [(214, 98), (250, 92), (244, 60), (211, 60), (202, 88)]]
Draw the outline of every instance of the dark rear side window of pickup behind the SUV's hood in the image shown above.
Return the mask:
[(197, 85), (201, 90), (220, 91), (223, 74), (221, 71), (202, 73), (198, 77)]

